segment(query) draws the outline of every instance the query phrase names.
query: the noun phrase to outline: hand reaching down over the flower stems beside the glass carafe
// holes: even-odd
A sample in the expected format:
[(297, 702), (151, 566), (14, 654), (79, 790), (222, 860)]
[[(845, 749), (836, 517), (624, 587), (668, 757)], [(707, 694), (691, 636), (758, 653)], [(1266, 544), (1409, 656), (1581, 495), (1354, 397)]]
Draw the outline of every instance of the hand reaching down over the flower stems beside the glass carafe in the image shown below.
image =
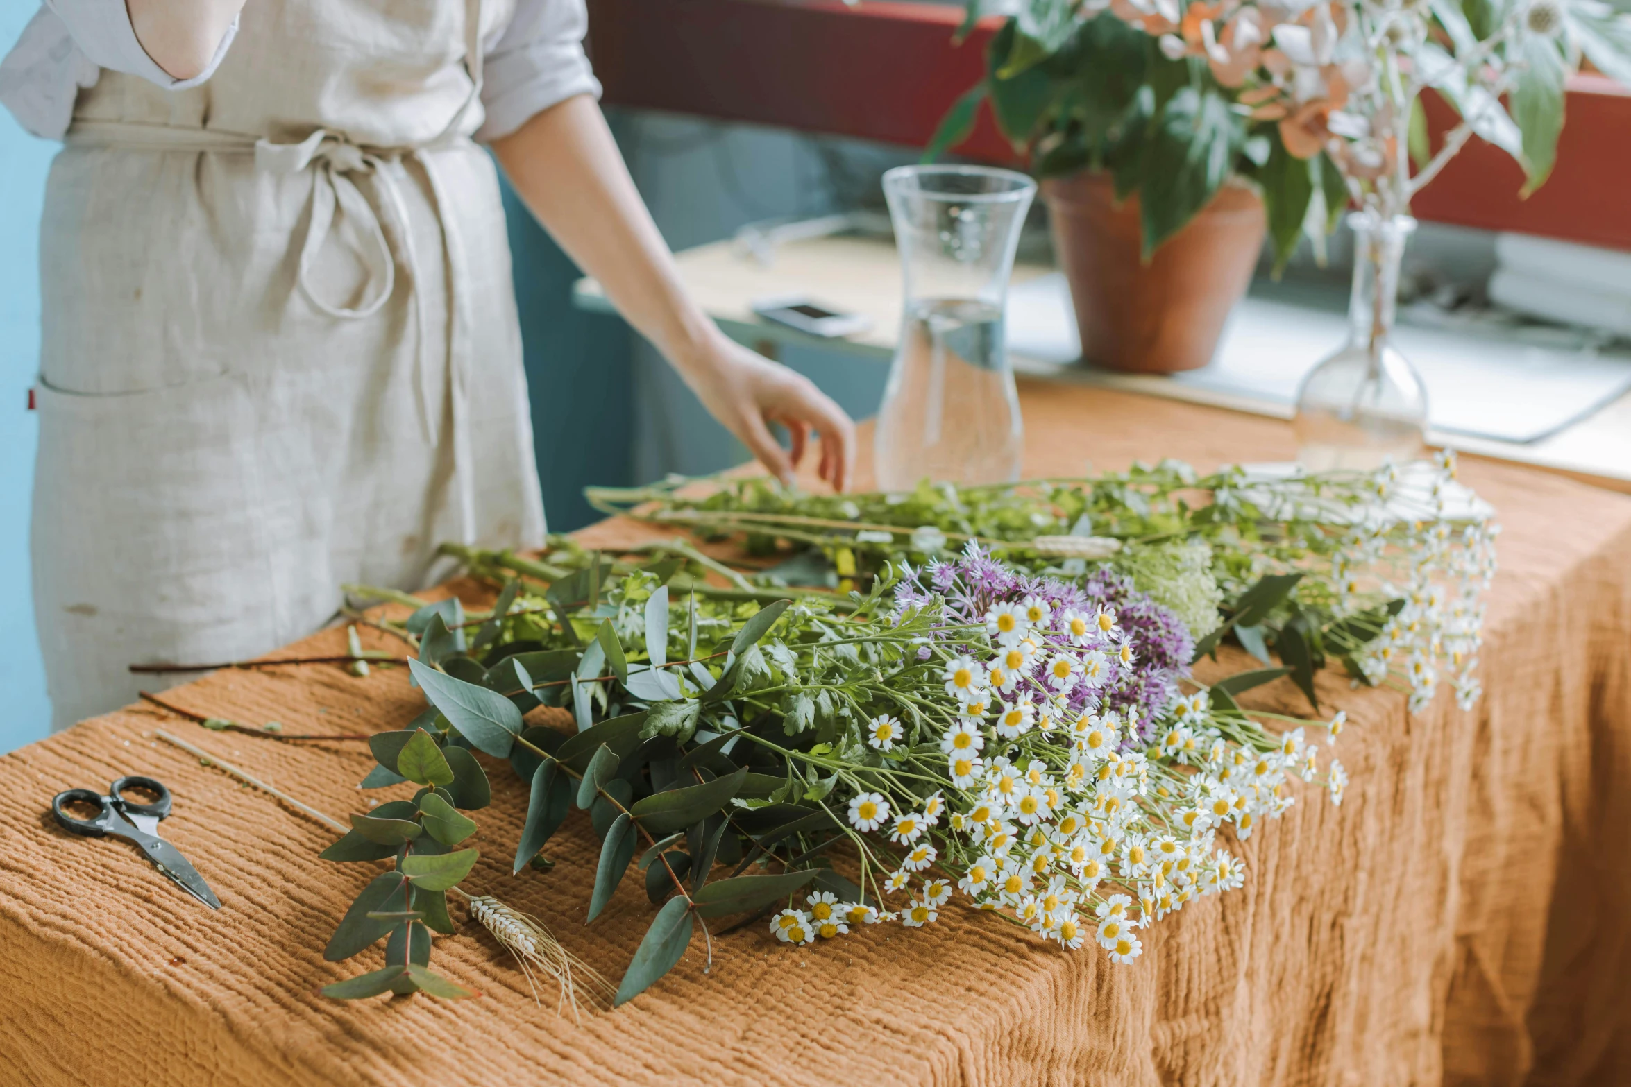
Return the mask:
[[(682, 365), (680, 372), (713, 417), (781, 482), (793, 482), (793, 469), (804, 458), (814, 429), (820, 435), (820, 477), (833, 491), (850, 486), (855, 424), (814, 381), (724, 334), (711, 337), (701, 355)], [(770, 433), (771, 422), (788, 429), (791, 450), (783, 450)]]

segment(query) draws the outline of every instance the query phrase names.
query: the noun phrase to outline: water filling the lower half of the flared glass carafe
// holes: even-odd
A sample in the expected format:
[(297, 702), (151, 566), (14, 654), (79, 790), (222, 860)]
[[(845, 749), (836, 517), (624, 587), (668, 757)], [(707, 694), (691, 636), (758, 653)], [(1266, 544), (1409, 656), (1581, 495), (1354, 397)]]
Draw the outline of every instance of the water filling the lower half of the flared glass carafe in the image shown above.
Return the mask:
[(900, 329), (877, 419), (877, 486), (1019, 477), (1024, 427), (1001, 310), (970, 300), (915, 301)]

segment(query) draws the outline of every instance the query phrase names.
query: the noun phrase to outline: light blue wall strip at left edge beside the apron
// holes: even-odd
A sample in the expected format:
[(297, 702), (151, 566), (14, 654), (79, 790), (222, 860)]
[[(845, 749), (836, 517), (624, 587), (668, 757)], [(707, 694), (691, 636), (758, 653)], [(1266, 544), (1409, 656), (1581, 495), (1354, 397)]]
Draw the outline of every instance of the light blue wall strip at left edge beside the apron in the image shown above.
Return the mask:
[[(0, 7), (0, 47), (33, 15), (31, 3)], [(41, 738), (51, 722), (28, 590), (36, 433), (28, 386), (39, 360), (39, 205), (55, 150), (0, 109), (0, 751)]]

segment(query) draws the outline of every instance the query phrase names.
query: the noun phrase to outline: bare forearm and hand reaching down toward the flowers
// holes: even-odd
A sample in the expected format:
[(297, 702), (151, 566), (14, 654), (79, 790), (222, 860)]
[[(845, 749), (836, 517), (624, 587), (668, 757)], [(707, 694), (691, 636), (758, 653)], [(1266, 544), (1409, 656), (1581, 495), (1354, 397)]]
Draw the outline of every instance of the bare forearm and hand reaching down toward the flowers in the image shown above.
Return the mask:
[[(820, 477), (846, 486), (855, 424), (807, 378), (726, 337), (685, 295), (594, 98), (545, 109), (493, 150), (538, 222), (765, 468), (791, 479), (816, 430)], [(791, 456), (771, 437), (771, 420), (793, 435)]]

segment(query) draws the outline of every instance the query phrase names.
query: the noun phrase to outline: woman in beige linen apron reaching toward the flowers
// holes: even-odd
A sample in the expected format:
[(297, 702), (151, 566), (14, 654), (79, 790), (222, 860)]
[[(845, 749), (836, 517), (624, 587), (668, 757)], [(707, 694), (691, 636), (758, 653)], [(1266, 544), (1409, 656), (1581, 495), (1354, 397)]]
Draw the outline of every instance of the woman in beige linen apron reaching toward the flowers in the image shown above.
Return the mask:
[[(435, 546), (537, 546), (496, 153), (703, 404), (837, 487), (843, 412), (727, 341), (600, 116), (584, 0), (49, 0), (0, 68), (65, 139), (41, 238), (34, 608), (54, 725), (243, 658)], [(793, 435), (783, 451), (767, 424)]]

